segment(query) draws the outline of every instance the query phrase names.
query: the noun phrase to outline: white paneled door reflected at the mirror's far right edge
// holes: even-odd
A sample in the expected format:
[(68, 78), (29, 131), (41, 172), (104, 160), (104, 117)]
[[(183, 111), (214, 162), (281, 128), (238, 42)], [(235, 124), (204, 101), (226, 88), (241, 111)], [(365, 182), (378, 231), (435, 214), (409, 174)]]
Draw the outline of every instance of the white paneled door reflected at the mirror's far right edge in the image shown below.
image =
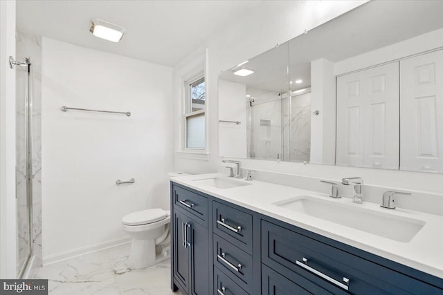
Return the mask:
[(401, 170), (443, 172), (443, 50), (400, 61)]

